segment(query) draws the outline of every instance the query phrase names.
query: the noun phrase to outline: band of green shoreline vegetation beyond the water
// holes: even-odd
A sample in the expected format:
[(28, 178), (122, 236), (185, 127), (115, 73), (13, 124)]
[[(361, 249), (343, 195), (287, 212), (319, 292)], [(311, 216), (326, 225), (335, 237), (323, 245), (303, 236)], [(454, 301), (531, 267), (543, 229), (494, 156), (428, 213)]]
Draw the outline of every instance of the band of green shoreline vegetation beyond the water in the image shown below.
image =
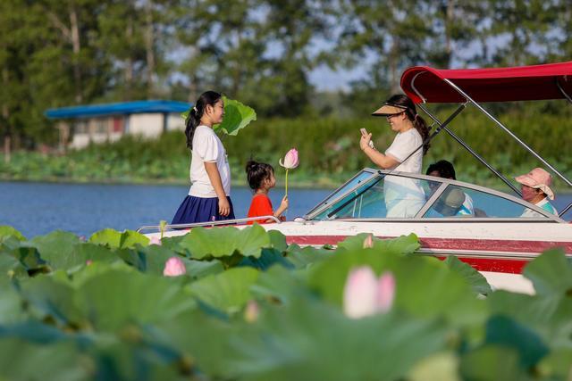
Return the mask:
[[(445, 115), (446, 109), (442, 110)], [(442, 117), (442, 116), (441, 116)], [(533, 108), (501, 114), (509, 128), (543, 155), (565, 176), (572, 174), (572, 157), (562, 152), (561, 142), (572, 141), (568, 115), (551, 115)], [(546, 126), (555, 126), (546, 128)], [(290, 174), (294, 187), (340, 186), (358, 170), (373, 167), (358, 146), (359, 128), (374, 134), (374, 144), (384, 150), (393, 137), (383, 119), (341, 120), (336, 118), (299, 118), (259, 120), (241, 131), (238, 137), (223, 137), (231, 163), (233, 186), (247, 186), (244, 164), (249, 158), (269, 162), (282, 186), (283, 170), (278, 159), (290, 148), (299, 150), (299, 169)], [(451, 124), (487, 162), (512, 178), (543, 166), (524, 148), (512, 142), (499, 128), (472, 110)], [(538, 137), (543, 137), (540, 140)], [(480, 162), (444, 133), (435, 137), (424, 158), (427, 166), (441, 159), (453, 162), (457, 178), (482, 186), (504, 189)], [(10, 162), (0, 162), (0, 180), (72, 183), (114, 183), (148, 185), (188, 185), (189, 152), (181, 131), (164, 133), (155, 140), (126, 136), (114, 143), (89, 145), (67, 153), (14, 152)], [(555, 187), (567, 186), (555, 178)]]

